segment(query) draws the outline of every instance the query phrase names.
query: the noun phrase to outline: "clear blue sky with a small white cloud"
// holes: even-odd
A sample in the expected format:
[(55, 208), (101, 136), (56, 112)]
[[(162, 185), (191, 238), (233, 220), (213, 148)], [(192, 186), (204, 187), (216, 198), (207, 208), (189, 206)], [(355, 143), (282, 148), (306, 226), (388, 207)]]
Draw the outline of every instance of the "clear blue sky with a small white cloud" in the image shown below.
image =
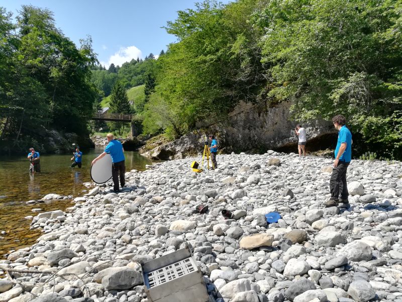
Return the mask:
[[(201, 2), (201, 1), (199, 1)], [(221, 0), (229, 3), (231, 0)], [(56, 26), (79, 45), (92, 37), (92, 47), (104, 65), (121, 65), (132, 58), (158, 55), (174, 36), (161, 28), (177, 17), (177, 11), (193, 9), (193, 0), (1, 0), (0, 6), (17, 14), (22, 5), (47, 8)]]

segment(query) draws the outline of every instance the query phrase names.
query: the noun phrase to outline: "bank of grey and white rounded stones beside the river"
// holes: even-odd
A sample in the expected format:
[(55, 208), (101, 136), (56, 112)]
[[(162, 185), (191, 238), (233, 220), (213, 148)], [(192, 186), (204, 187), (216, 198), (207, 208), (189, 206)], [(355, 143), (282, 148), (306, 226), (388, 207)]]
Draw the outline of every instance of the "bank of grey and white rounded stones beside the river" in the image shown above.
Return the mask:
[[(201, 174), (193, 160), (128, 172), (118, 194), (93, 187), (35, 216), (38, 243), (0, 261), (0, 302), (145, 302), (140, 264), (184, 246), (219, 302), (402, 301), (401, 163), (353, 161), (340, 209), (322, 205), (329, 159), (224, 155)], [(281, 219), (267, 224), (271, 211)]]

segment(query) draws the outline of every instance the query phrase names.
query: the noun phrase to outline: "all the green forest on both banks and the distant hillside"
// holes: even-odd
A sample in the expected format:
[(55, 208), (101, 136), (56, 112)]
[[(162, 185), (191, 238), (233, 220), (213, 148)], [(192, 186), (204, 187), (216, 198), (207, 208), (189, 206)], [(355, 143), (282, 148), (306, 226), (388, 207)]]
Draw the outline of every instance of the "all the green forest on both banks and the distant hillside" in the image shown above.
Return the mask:
[(401, 12), (402, 0), (204, 1), (166, 23), (177, 40), (157, 59), (106, 69), (90, 39), (75, 47), (51, 12), (23, 7), (12, 23), (2, 10), (0, 139), (18, 144), (46, 125), (82, 133), (115, 86), (127, 100), (145, 85), (144, 102), (127, 109), (144, 134), (172, 139), (242, 101), (291, 101), (294, 120), (343, 114), (357, 153), (401, 159)]

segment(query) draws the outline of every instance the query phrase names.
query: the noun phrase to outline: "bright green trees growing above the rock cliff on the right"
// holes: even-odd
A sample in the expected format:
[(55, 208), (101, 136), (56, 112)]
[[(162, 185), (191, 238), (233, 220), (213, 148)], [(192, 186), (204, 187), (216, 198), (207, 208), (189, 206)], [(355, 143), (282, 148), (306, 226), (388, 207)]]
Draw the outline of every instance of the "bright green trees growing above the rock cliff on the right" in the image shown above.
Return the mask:
[(179, 11), (144, 130), (180, 136), (239, 101), (292, 102), (300, 122), (343, 114), (355, 148), (402, 158), (400, 0), (215, 1)]

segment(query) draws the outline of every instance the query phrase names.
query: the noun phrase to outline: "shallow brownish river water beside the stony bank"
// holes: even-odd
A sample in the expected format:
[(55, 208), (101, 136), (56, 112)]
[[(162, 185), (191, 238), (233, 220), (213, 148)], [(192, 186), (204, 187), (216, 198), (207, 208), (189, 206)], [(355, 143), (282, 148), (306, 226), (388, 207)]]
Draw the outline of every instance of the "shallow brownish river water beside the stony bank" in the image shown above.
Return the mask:
[[(24, 156), (0, 156), (0, 258), (10, 250), (20, 249), (35, 243), (40, 230), (29, 230), (32, 209), (51, 211), (72, 206), (72, 200), (56, 200), (48, 203), (27, 204), (49, 193), (72, 195), (73, 198), (86, 193), (82, 183), (91, 182), (90, 163), (103, 149), (83, 151), (82, 168), (70, 168), (71, 154), (41, 156), (41, 173), (29, 173), (29, 161)], [(27, 154), (28, 156), (28, 154)], [(126, 151), (126, 171), (145, 170), (152, 162), (138, 152)]]

